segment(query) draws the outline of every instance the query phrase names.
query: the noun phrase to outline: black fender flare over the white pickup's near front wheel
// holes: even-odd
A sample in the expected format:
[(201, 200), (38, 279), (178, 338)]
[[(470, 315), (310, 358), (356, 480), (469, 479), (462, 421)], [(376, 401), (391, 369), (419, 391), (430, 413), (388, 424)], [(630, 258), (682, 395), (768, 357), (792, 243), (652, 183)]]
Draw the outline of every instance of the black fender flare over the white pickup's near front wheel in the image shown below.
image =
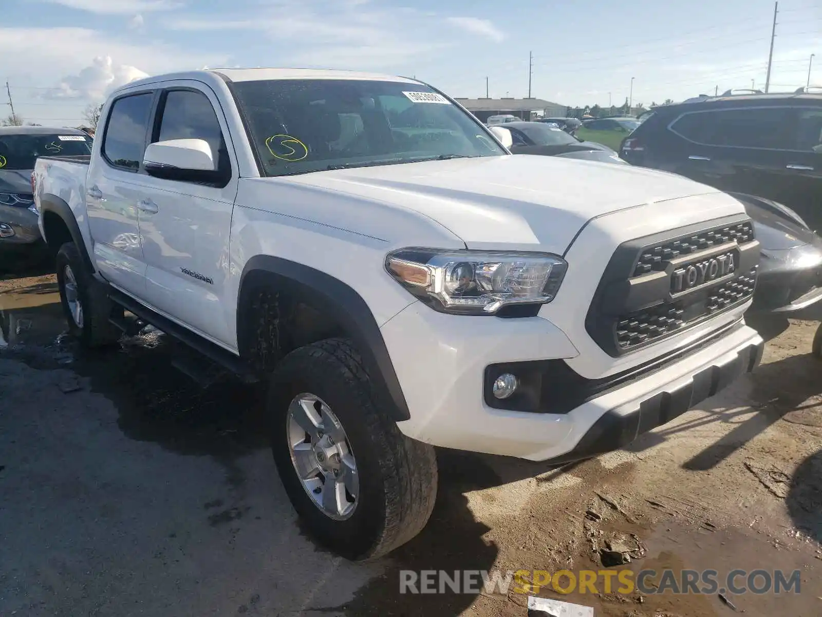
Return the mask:
[(247, 310), (250, 308), (250, 303), (243, 297), (243, 291), (247, 289), (244, 285), (247, 276), (252, 272), (274, 276), (317, 307), (333, 306), (335, 318), (351, 336), (363, 357), (377, 402), (385, 406), (392, 420), (409, 420), (411, 415), (408, 403), (371, 308), (352, 287), (325, 272), (270, 255), (257, 255), (248, 260), (242, 270), (238, 293), (237, 340), (241, 350), (247, 336), (243, 325), (249, 322)]

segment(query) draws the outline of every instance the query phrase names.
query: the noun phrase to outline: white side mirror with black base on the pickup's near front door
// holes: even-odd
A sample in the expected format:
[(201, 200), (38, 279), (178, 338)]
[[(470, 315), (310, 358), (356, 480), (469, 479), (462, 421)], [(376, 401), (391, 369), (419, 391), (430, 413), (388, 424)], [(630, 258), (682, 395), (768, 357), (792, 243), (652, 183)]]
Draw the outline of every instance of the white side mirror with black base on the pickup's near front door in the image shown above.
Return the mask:
[(143, 167), (155, 178), (219, 182), (211, 146), (204, 139), (169, 139), (150, 144), (143, 155)]

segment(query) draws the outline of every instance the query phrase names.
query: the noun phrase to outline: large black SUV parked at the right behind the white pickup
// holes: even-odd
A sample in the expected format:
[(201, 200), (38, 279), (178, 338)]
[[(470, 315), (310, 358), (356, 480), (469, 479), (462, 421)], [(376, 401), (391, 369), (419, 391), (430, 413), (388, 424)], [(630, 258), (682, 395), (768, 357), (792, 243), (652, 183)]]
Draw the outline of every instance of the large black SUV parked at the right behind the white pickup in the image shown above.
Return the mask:
[(723, 95), (657, 107), (619, 155), (783, 203), (822, 230), (820, 94)]

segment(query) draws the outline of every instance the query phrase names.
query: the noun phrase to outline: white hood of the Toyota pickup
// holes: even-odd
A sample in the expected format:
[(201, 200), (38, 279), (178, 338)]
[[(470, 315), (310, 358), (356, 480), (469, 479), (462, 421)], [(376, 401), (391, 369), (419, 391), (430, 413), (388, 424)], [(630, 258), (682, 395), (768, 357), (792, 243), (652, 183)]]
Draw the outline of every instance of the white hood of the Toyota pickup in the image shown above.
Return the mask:
[[(304, 202), (316, 191), (356, 197), (361, 212), (327, 211), (321, 222), (393, 240), (373, 207), (413, 211), (450, 230), (469, 248), (563, 253), (586, 222), (634, 206), (711, 195), (707, 210), (660, 211), (686, 225), (706, 215), (742, 212), (737, 200), (673, 174), (631, 165), (591, 165), (552, 156), (486, 156), (426, 161), (268, 178), (299, 189)], [(713, 197), (716, 196), (716, 197)], [(668, 211), (668, 212), (666, 212)], [(352, 228), (351, 219), (357, 217)], [(384, 217), (381, 217), (384, 218)], [(398, 220), (400, 217), (397, 217)], [(396, 231), (399, 238), (400, 230)]]

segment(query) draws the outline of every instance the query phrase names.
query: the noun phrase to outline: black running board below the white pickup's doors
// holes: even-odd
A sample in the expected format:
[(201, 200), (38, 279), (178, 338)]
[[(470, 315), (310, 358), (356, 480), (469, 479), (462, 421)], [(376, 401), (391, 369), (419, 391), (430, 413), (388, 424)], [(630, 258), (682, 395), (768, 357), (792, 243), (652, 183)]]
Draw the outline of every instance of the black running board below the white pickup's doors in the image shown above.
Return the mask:
[[(169, 336), (173, 336), (173, 338), (178, 341), (185, 343), (193, 350), (199, 351), (209, 360), (213, 360), (225, 369), (235, 373), (245, 383), (256, 383), (259, 381), (259, 378), (256, 376), (252, 368), (237, 355), (232, 354), (228, 350), (224, 350), (222, 347), (215, 345), (211, 341), (206, 341), (202, 336), (187, 330), (187, 328), (179, 326), (169, 318), (165, 318), (156, 311), (143, 306), (131, 296), (123, 294), (122, 291), (109, 287), (109, 298), (111, 298), (113, 302), (122, 306), (122, 308), (125, 308), (127, 311), (131, 311), (136, 315), (137, 320), (134, 324), (135, 327), (139, 322), (143, 322), (141, 329), (142, 327), (145, 327), (146, 324), (150, 324), (158, 330), (165, 332)], [(113, 323), (115, 326), (120, 327), (120, 323), (118, 322), (122, 322), (125, 319), (126, 318), (123, 318), (122, 320), (114, 318)]]

